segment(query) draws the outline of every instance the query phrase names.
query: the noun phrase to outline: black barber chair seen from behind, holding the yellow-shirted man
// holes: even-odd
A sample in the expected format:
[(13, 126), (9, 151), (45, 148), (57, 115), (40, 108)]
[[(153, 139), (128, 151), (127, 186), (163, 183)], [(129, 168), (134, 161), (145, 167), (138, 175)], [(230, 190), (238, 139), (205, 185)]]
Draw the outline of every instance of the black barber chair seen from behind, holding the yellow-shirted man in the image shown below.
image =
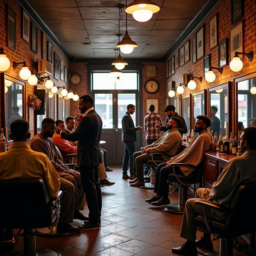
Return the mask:
[[(58, 197), (49, 199), (43, 179), (0, 180), (0, 227), (20, 229), (9, 241), (0, 245), (15, 244), (19, 236), (24, 237), (24, 250), (10, 255), (62, 256), (50, 249), (36, 249), (35, 229), (51, 228), (60, 213)], [(20, 231), (24, 229), (24, 233)]]

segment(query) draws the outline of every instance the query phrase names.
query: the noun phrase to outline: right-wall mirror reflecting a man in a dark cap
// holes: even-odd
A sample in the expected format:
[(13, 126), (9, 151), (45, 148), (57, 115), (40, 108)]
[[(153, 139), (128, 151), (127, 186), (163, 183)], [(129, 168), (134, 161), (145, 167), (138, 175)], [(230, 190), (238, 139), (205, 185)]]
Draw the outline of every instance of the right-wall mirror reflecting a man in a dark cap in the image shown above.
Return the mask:
[[(208, 116), (211, 118), (211, 133), (223, 136), (232, 131), (231, 82), (208, 88)], [(227, 131), (226, 131), (227, 128)]]

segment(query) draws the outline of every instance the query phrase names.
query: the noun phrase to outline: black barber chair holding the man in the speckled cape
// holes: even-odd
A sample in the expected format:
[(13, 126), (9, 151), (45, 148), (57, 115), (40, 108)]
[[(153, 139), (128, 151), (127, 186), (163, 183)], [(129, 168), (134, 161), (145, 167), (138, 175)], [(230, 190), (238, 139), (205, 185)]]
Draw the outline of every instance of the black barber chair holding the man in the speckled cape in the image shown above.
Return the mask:
[[(179, 202), (177, 203), (171, 203), (167, 206), (165, 206), (164, 211), (168, 213), (173, 214), (183, 214), (185, 209), (185, 204), (187, 201), (187, 198), (192, 193), (188, 194), (188, 187), (192, 188), (192, 184), (194, 184), (194, 194), (196, 193), (196, 186), (195, 184), (200, 183), (202, 172), (203, 172), (203, 164), (200, 164), (198, 167), (192, 164), (182, 164), (182, 163), (174, 163), (171, 165), (173, 167), (173, 173), (168, 175), (167, 182), (173, 182), (174, 188), (173, 191), (169, 194), (175, 194), (175, 190), (179, 189), (179, 194), (175, 194), (179, 196)], [(194, 169), (192, 173), (190, 173), (188, 176), (185, 176), (184, 174), (176, 174), (174, 167), (191, 167)]]

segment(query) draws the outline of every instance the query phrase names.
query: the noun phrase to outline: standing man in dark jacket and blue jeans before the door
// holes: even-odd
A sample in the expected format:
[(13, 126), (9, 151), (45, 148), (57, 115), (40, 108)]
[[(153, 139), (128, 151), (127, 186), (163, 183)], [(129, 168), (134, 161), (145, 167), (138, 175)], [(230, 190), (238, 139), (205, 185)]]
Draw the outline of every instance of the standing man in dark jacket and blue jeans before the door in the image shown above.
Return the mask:
[[(136, 131), (141, 130), (141, 126), (134, 127), (131, 115), (135, 112), (133, 104), (127, 105), (127, 112), (122, 117), (122, 141), (124, 142), (123, 158), (123, 179), (135, 179), (133, 175), (133, 153), (135, 152)], [(127, 175), (128, 161), (130, 165), (130, 177)]]

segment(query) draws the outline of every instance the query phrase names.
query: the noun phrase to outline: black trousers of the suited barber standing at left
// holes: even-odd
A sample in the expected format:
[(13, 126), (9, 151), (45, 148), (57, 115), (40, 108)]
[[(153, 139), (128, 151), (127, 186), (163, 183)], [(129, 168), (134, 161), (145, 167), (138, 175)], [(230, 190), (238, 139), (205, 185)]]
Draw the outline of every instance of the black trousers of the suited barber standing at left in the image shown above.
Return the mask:
[(100, 221), (102, 198), (99, 180), (99, 165), (80, 165), (80, 175), (89, 209), (89, 222)]

